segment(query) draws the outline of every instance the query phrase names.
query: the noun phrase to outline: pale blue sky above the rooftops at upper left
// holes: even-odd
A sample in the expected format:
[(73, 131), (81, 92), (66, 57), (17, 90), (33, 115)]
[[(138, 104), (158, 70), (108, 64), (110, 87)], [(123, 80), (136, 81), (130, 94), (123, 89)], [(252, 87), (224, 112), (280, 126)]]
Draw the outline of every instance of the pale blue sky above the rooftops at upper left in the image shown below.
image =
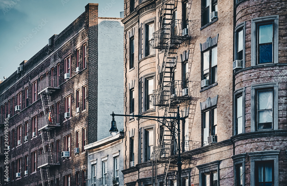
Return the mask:
[(88, 3), (99, 3), (99, 17), (119, 18), (124, 9), (123, 0), (0, 0), (0, 79), (69, 26)]

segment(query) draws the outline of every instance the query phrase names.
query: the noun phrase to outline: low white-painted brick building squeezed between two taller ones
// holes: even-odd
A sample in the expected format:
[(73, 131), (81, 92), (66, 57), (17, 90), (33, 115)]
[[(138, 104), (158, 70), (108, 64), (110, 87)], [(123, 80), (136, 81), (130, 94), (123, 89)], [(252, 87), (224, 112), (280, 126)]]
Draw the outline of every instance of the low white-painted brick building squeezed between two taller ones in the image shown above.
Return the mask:
[(124, 132), (85, 146), (88, 151), (88, 185), (124, 186)]

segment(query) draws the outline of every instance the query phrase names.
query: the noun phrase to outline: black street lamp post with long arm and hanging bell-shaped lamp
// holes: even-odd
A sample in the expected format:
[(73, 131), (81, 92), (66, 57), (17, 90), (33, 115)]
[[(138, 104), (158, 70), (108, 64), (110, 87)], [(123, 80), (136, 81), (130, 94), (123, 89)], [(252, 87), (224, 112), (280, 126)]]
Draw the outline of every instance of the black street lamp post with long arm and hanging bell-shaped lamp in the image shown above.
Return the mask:
[[(159, 120), (156, 119), (171, 119), (177, 122), (177, 149), (178, 149), (178, 157), (177, 157), (177, 186), (181, 186), (181, 166), (182, 166), (182, 162), (181, 162), (181, 147), (180, 147), (180, 121), (182, 121), (183, 123), (185, 123), (185, 118), (180, 117), (179, 115), (179, 106), (177, 106), (177, 116), (176, 117), (160, 117), (160, 116), (142, 116), (142, 115), (125, 115), (125, 114), (114, 114), (114, 112), (111, 114), (111, 116), (113, 117), (113, 120), (111, 122), (111, 127), (110, 127), (110, 134), (112, 136), (115, 136), (118, 132), (117, 126), (116, 126), (116, 121), (115, 121), (115, 116), (126, 116), (126, 117), (136, 117), (137, 120), (143, 118), (143, 119), (150, 119), (150, 120), (154, 120), (154, 121), (158, 121), (160, 123), (162, 123), (164, 126), (165, 123), (161, 122)], [(167, 126), (166, 126), (167, 127)], [(170, 129), (169, 127), (167, 127), (170, 132), (174, 135), (175, 131)]]

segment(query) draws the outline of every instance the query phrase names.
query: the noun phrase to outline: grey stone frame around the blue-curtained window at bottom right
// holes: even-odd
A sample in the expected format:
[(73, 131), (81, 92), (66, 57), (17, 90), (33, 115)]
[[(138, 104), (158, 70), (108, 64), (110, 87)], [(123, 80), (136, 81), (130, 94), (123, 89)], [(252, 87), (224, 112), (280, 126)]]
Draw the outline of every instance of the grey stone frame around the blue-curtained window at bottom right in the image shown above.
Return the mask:
[(274, 160), (274, 186), (278, 186), (278, 155), (280, 150), (265, 150), (265, 151), (255, 151), (249, 152), (250, 162), (251, 162), (251, 185), (255, 186), (255, 162), (256, 161), (265, 161), (265, 160)]

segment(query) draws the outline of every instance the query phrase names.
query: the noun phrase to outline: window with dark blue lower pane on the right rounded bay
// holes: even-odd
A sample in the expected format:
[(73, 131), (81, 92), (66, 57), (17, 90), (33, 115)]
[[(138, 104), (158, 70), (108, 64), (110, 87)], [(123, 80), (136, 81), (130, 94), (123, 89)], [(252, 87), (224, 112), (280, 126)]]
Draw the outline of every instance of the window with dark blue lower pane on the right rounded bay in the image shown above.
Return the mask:
[(273, 62), (273, 22), (257, 24), (257, 63)]

